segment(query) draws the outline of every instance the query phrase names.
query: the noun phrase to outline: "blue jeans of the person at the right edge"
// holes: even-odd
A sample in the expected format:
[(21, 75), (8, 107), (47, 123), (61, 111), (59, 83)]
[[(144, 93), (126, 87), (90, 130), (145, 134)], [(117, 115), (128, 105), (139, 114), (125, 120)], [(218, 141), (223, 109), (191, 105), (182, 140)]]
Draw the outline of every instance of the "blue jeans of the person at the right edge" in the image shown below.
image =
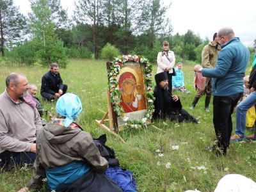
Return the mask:
[(246, 99), (236, 107), (236, 134), (243, 137), (245, 131), (246, 113), (256, 104), (256, 91), (250, 93)]

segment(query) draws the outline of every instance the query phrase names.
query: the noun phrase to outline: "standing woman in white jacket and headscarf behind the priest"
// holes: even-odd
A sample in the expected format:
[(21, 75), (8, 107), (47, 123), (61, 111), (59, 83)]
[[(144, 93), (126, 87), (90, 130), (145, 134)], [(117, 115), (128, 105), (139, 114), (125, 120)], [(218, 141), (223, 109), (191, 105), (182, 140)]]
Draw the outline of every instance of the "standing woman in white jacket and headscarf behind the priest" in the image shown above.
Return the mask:
[(161, 72), (166, 72), (168, 76), (168, 90), (172, 93), (172, 76), (175, 75), (173, 67), (175, 65), (174, 52), (169, 50), (169, 43), (167, 41), (163, 42), (162, 51), (157, 55), (157, 74)]

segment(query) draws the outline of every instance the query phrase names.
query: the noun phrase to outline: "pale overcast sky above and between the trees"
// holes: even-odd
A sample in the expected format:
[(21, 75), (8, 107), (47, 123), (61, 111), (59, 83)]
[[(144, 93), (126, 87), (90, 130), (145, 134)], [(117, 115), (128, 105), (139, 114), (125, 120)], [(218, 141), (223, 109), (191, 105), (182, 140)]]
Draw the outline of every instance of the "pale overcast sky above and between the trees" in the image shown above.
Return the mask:
[[(172, 2), (167, 16), (171, 19), (173, 35), (184, 35), (188, 29), (202, 39), (212, 40), (214, 33), (230, 26), (241, 42), (253, 45), (256, 39), (256, 13), (254, 0), (163, 0)], [(30, 11), (28, 0), (13, 0), (20, 6), (20, 12), (26, 15)], [(68, 8), (69, 17), (74, 10), (74, 0), (61, 0), (63, 8)]]

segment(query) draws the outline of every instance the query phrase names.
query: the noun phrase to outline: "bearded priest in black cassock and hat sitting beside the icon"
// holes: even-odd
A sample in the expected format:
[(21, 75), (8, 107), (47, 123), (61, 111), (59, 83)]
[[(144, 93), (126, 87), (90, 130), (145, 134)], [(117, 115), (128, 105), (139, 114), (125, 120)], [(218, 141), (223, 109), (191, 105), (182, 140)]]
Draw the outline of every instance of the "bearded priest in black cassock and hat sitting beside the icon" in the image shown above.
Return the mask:
[(168, 91), (168, 77), (166, 72), (156, 74), (155, 79), (156, 88), (154, 89), (154, 97), (156, 97), (156, 100), (154, 100), (155, 111), (153, 118), (169, 118), (171, 121), (177, 120), (179, 122), (198, 123), (199, 121), (196, 118), (182, 109), (179, 97), (172, 95), (172, 92)]

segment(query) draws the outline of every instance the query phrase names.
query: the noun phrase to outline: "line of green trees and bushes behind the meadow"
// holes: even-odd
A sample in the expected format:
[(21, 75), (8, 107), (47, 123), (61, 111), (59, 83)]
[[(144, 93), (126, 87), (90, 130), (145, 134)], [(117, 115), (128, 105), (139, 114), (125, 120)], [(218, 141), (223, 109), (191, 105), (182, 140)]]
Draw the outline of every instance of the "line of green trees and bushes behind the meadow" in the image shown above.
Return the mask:
[(200, 63), (202, 48), (212, 40), (191, 30), (172, 35), (171, 3), (163, 0), (78, 0), (72, 19), (60, 0), (29, 2), (25, 17), (13, 0), (0, 1), (0, 50), (9, 65), (66, 67), (68, 58), (111, 60), (115, 54), (143, 55), (155, 63), (164, 40), (178, 60)]

